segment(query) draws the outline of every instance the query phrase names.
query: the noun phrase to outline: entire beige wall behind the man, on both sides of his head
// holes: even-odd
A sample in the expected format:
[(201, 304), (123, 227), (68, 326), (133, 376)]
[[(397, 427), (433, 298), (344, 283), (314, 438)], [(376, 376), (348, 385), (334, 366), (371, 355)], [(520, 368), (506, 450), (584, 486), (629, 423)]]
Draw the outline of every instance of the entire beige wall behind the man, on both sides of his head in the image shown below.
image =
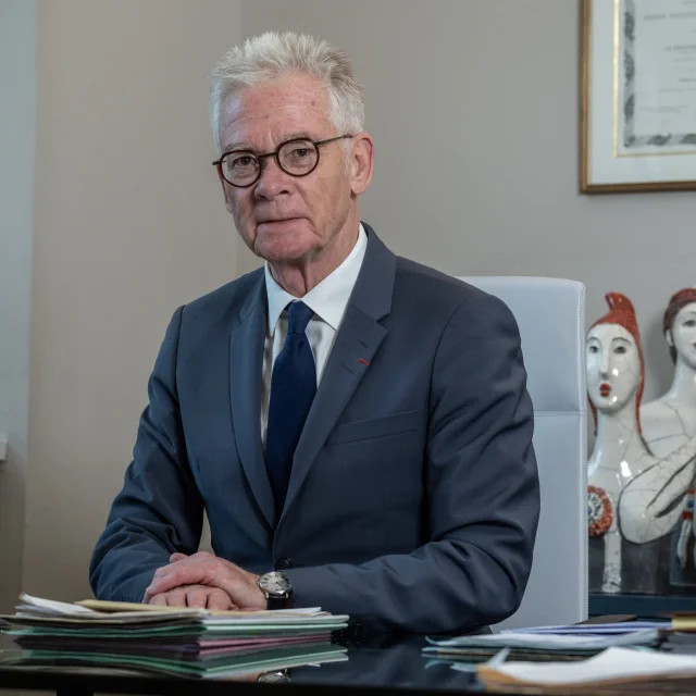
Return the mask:
[(270, 28), (353, 57), (377, 158), (363, 216), (395, 251), (449, 273), (581, 279), (589, 318), (622, 290), (646, 396), (667, 385), (659, 314), (696, 283), (696, 197), (577, 194), (575, 0), (42, 0), (29, 592), (87, 593), (172, 311), (258, 264), (209, 164), (203, 77)]

